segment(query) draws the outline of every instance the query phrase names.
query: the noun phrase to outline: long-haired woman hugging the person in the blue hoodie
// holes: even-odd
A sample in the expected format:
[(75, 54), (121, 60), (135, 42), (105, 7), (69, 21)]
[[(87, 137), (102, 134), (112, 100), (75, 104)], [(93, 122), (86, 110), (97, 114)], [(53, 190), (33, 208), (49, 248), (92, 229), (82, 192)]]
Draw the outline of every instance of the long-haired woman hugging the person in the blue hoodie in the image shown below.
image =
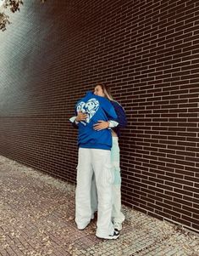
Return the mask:
[[(99, 83), (94, 88), (94, 94), (101, 96), (110, 100), (113, 108), (117, 114), (116, 120), (103, 121), (99, 120), (94, 124), (93, 128), (97, 131), (103, 129), (111, 129), (113, 145), (111, 148), (111, 164), (113, 172), (113, 208), (112, 208), (112, 221), (115, 230), (122, 230), (122, 223), (124, 222), (124, 213), (121, 212), (121, 174), (120, 174), (120, 164), (119, 164), (119, 136), (120, 128), (125, 128), (127, 121), (124, 112), (124, 108), (117, 102), (113, 100), (113, 96), (110, 93), (110, 89), (105, 84)], [(80, 122), (86, 119), (86, 114), (79, 112), (76, 121)], [(95, 184), (95, 177), (91, 182), (91, 210), (92, 218), (93, 213), (97, 210), (97, 189)]]

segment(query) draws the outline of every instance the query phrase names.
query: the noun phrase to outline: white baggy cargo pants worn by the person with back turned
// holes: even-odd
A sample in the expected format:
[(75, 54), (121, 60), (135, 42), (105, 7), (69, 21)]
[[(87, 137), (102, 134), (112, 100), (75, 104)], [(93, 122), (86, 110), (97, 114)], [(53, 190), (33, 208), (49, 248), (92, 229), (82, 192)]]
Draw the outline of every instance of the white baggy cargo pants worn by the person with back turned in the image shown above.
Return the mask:
[(100, 149), (79, 149), (77, 186), (75, 194), (75, 222), (83, 229), (91, 221), (91, 179), (93, 173), (97, 185), (97, 233), (98, 237), (113, 235), (112, 185), (110, 151)]

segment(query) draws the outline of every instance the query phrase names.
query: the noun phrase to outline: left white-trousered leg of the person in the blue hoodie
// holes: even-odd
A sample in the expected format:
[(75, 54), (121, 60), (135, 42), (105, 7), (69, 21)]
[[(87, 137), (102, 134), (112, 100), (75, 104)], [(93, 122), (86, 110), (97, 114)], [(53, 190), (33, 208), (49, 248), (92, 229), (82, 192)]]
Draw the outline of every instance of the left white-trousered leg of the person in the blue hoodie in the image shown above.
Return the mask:
[(75, 222), (83, 230), (91, 221), (91, 150), (79, 149), (75, 193)]

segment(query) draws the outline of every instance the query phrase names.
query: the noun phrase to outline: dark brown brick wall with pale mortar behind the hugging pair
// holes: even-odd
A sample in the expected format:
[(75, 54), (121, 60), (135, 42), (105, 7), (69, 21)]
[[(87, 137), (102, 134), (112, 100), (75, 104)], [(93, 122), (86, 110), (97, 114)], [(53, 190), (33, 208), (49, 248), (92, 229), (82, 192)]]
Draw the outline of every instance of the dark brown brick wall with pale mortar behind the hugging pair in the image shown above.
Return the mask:
[(0, 33), (0, 153), (75, 183), (69, 117), (106, 82), (128, 117), (123, 202), (199, 230), (198, 1), (63, 2), (26, 1)]

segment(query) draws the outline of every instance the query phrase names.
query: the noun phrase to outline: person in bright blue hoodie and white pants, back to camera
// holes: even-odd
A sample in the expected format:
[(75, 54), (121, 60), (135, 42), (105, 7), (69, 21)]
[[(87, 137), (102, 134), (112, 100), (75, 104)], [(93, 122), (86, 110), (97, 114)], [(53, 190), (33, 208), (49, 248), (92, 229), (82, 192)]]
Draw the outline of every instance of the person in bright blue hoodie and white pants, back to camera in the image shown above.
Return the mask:
[[(85, 115), (80, 120), (79, 114)], [(75, 122), (78, 125), (78, 166), (75, 191), (75, 222), (84, 230), (92, 217), (91, 180), (93, 174), (97, 186), (97, 232), (104, 239), (117, 239), (119, 232), (112, 223), (113, 173), (111, 166), (112, 134), (109, 128), (97, 130), (98, 122), (108, 122), (117, 115), (109, 100), (88, 92), (75, 106)], [(71, 122), (73, 120), (70, 119)]]

